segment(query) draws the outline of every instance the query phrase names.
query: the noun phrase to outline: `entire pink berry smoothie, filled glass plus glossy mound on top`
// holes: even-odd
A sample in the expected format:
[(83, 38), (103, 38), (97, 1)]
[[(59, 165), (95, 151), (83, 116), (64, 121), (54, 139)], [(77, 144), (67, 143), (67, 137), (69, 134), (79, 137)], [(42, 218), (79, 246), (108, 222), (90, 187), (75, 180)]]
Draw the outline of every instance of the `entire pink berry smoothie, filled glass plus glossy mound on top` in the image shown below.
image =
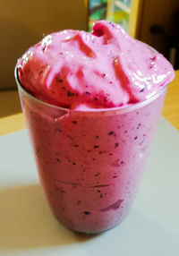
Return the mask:
[(40, 182), (55, 217), (98, 233), (128, 214), (174, 70), (118, 25), (64, 30), (18, 61)]

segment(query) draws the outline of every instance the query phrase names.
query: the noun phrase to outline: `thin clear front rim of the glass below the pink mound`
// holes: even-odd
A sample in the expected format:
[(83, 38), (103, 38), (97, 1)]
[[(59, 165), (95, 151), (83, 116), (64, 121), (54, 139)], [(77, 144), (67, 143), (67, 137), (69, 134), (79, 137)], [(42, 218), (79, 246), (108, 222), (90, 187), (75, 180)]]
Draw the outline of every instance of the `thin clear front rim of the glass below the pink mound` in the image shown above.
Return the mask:
[(24, 95), (27, 97), (31, 98), (38, 104), (45, 106), (45, 107), (51, 107), (54, 109), (58, 109), (61, 111), (64, 111), (66, 113), (71, 113), (71, 114), (78, 114), (78, 115), (112, 115), (111, 113), (117, 112), (117, 114), (125, 114), (128, 112), (132, 112), (134, 110), (140, 109), (141, 107), (149, 105), (149, 103), (153, 102), (155, 99), (159, 98), (159, 96), (166, 90), (167, 84), (164, 84), (161, 86), (161, 88), (157, 91), (157, 93), (152, 96), (151, 98), (148, 98), (146, 100), (143, 100), (141, 102), (133, 103), (133, 104), (126, 104), (122, 107), (104, 107), (104, 108), (89, 108), (88, 110), (82, 110), (82, 109), (70, 109), (70, 108), (65, 108), (65, 107), (58, 107), (53, 104), (47, 103), (41, 99), (38, 99), (34, 97), (28, 90), (26, 90), (19, 79), (19, 74), (18, 74), (18, 66), (16, 64), (15, 70), (14, 70), (14, 76), (15, 76), (15, 81), (18, 86), (18, 90), (21, 90)]

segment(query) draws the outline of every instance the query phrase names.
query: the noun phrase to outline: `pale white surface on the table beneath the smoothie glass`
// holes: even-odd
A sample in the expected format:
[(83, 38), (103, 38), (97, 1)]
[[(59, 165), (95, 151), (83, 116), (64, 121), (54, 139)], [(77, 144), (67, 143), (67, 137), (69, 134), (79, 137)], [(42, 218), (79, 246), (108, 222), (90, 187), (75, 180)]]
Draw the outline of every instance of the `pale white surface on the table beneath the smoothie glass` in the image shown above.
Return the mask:
[(161, 118), (140, 191), (124, 222), (79, 235), (48, 209), (27, 131), (0, 138), (0, 255), (179, 255), (179, 134)]

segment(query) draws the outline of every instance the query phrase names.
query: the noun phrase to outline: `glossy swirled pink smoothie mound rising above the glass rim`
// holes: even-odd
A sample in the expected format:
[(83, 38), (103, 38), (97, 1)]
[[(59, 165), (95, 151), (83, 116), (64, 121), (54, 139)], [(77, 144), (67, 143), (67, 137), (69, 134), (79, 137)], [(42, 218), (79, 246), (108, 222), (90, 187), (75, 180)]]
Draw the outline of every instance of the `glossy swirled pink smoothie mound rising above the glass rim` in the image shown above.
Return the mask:
[(172, 81), (166, 58), (119, 25), (98, 21), (92, 33), (62, 30), (18, 61), (22, 86), (58, 107), (121, 107), (151, 98)]

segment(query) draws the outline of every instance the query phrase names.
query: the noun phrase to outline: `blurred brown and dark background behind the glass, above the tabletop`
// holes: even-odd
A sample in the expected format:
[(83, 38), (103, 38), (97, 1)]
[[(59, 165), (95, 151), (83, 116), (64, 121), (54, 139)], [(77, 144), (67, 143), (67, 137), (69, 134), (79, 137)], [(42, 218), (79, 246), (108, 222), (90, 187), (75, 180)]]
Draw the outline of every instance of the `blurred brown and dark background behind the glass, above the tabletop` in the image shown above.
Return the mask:
[(179, 69), (179, 0), (0, 0), (0, 117), (21, 112), (13, 70), (48, 33), (115, 21)]

